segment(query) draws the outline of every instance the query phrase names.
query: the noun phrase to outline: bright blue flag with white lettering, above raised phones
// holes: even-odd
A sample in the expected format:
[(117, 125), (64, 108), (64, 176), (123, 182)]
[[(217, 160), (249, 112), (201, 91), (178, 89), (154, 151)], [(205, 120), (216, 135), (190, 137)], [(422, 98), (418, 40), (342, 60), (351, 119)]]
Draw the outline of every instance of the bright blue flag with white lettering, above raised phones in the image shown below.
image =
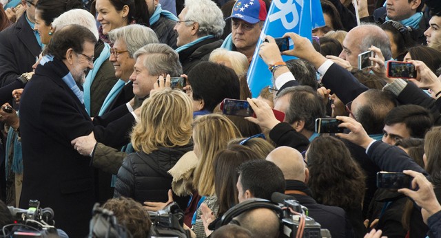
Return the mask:
[[(282, 37), (286, 32), (294, 32), (311, 40), (312, 29), (325, 25), (320, 0), (273, 0), (269, 7), (267, 19), (263, 25), (260, 39), (249, 65), (247, 82), (253, 97), (257, 97), (264, 87), (272, 84), (272, 74), (259, 56), (260, 45), (265, 36)], [(294, 45), (289, 43), (289, 48)], [(289, 61), (294, 56), (283, 56)]]

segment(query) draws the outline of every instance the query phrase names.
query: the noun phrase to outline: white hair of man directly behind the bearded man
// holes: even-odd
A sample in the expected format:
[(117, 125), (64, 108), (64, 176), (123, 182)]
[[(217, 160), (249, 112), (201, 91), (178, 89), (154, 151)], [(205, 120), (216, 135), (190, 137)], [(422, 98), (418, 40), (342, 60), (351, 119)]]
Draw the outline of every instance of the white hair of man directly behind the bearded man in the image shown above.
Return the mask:
[(83, 27), (88, 28), (99, 40), (98, 28), (96, 28), (96, 21), (94, 15), (83, 9), (72, 9), (64, 12), (59, 17), (54, 19), (52, 22), (52, 27), (55, 28), (57, 32), (66, 25), (83, 25)]

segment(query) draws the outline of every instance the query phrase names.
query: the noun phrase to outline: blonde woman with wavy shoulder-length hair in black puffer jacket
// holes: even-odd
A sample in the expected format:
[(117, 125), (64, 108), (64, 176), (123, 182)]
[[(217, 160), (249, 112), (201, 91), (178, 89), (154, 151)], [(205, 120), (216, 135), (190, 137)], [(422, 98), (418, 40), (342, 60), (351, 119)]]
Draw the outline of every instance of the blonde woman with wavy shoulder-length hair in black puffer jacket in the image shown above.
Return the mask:
[(167, 88), (150, 94), (131, 135), (136, 152), (127, 155), (118, 171), (114, 197), (167, 201), (172, 184), (167, 171), (193, 149), (192, 118), (192, 101), (183, 91)]

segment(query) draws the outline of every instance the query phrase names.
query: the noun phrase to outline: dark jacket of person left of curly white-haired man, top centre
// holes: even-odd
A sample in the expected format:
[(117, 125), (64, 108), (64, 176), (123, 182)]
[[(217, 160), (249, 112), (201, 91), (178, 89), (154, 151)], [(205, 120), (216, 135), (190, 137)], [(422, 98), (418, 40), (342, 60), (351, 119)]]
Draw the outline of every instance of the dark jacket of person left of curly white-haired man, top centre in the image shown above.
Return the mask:
[(167, 19), (163, 15), (159, 16), (158, 21), (156, 21), (153, 25), (150, 25), (150, 28), (156, 33), (158, 36), (159, 42), (164, 43), (176, 49), (176, 41), (178, 40), (178, 33), (173, 30), (176, 22)]

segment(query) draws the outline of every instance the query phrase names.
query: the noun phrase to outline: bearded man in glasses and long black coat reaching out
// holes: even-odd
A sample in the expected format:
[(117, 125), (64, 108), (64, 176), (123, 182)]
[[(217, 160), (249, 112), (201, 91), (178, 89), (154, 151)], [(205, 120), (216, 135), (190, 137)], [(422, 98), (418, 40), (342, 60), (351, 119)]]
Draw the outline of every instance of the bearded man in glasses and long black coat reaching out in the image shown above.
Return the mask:
[(77, 153), (70, 141), (93, 131), (100, 142), (121, 146), (112, 138), (124, 138), (134, 122), (126, 105), (93, 121), (85, 111), (78, 85), (85, 78), (85, 70), (93, 67), (95, 43), (94, 34), (81, 25), (68, 25), (55, 32), (20, 103), (20, 207), (28, 208), (30, 199), (38, 199), (41, 207), (54, 210), (57, 228), (70, 237), (88, 233), (95, 202), (90, 158)]

